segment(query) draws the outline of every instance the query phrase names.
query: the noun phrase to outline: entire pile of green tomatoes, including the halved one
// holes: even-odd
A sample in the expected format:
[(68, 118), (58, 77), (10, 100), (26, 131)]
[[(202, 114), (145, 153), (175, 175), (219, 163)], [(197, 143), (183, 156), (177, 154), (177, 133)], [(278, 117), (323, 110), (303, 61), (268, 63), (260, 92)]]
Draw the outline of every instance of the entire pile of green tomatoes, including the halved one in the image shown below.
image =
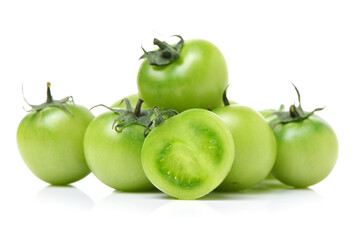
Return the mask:
[[(257, 112), (226, 97), (228, 72), (205, 40), (154, 39), (137, 76), (138, 94), (94, 117), (71, 97), (30, 105), (17, 131), (26, 165), (40, 179), (67, 185), (92, 172), (120, 191), (158, 188), (179, 199), (239, 191), (273, 175), (308, 187), (333, 169), (332, 128), (299, 105)], [(201, 89), (201, 91), (198, 91)]]

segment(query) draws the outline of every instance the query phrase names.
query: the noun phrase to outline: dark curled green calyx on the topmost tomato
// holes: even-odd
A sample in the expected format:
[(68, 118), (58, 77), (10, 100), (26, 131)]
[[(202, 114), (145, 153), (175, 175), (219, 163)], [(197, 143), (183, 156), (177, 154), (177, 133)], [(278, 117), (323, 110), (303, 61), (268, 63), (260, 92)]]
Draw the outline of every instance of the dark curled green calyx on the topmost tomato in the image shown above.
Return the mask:
[(158, 46), (158, 50), (147, 52), (143, 47), (142, 50), (144, 54), (140, 59), (147, 58), (150, 65), (163, 66), (172, 63), (180, 57), (180, 51), (184, 45), (184, 39), (180, 35), (174, 35), (180, 38), (180, 41), (172, 46), (165, 41), (160, 41), (157, 38), (154, 38), (154, 45)]

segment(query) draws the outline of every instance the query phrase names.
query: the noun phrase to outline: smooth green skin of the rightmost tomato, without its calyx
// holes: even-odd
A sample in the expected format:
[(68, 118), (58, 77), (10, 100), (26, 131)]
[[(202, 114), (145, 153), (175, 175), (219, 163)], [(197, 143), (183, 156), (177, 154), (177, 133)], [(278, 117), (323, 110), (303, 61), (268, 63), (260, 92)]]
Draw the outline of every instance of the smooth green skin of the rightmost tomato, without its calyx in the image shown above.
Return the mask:
[(320, 117), (278, 125), (278, 144), (272, 174), (281, 182), (299, 188), (314, 185), (326, 178), (338, 156), (334, 130)]

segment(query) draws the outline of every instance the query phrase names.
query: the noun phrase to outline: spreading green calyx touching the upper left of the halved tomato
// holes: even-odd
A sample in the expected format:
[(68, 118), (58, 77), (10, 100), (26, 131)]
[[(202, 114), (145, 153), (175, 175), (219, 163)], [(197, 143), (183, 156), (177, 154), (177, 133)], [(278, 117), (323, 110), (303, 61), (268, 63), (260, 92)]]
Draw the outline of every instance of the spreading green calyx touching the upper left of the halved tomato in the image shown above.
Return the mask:
[(133, 124), (141, 125), (144, 127), (147, 127), (150, 124), (153, 110), (141, 110), (141, 105), (144, 102), (141, 98), (139, 98), (139, 100), (137, 101), (135, 108), (131, 106), (131, 103), (127, 98), (124, 98), (119, 105), (121, 105), (123, 102), (125, 102), (126, 109), (111, 108), (104, 104), (96, 105), (91, 109), (102, 106), (118, 114), (119, 116), (114, 120), (112, 125), (112, 128), (115, 129), (115, 131), (117, 132), (121, 132), (124, 128)]

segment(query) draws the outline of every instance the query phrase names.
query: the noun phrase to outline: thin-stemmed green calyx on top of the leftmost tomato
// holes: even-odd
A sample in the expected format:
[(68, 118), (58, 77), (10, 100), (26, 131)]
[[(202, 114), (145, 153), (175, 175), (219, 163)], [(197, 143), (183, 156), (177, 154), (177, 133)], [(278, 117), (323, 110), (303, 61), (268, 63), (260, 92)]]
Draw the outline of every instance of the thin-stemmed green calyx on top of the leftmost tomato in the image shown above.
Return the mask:
[(24, 89), (23, 89), (23, 98), (24, 98), (24, 101), (31, 107), (30, 110), (26, 110), (27, 112), (39, 112), (45, 108), (48, 108), (48, 107), (58, 107), (58, 108), (61, 108), (63, 109), (65, 112), (67, 112), (70, 116), (74, 117), (72, 115), (72, 113), (69, 111), (69, 109), (67, 109), (67, 107), (65, 106), (65, 103), (67, 102), (72, 102), (74, 103), (74, 99), (72, 96), (69, 96), (69, 97), (65, 97), (63, 99), (60, 99), (60, 100), (54, 100), (52, 95), (51, 95), (51, 90), (50, 90), (50, 87), (51, 87), (51, 83), (50, 82), (47, 82), (46, 83), (46, 86), (47, 86), (47, 91), (46, 91), (46, 102), (42, 103), (42, 104), (39, 104), (39, 105), (32, 105), (30, 104), (24, 97)]

